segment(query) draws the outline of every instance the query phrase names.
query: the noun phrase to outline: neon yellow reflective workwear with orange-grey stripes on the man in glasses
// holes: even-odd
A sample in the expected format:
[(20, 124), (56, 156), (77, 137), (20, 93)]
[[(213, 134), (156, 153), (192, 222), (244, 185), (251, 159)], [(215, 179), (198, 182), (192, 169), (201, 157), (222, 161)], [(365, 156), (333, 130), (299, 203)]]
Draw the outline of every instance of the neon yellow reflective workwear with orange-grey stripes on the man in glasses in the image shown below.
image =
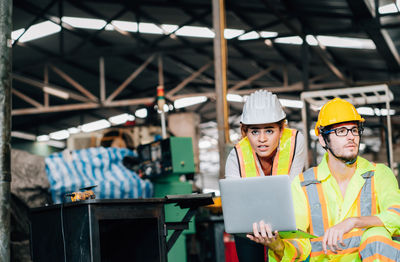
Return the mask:
[[(328, 155), (325, 154), (318, 167), (308, 169), (292, 182), (297, 227), (319, 238), (285, 239), (281, 261), (304, 261), (309, 257), (310, 262), (355, 262), (361, 261), (360, 256), (369, 256), (371, 260), (365, 261), (375, 261), (373, 256), (389, 258), (376, 261), (398, 261), (395, 257), (400, 257), (400, 244), (387, 238), (380, 240), (384, 239), (380, 235), (371, 237), (371, 241), (368, 241), (369, 238), (365, 240), (364, 233), (368, 233), (368, 230), (357, 228), (344, 235), (346, 246), (343, 250), (337, 253), (328, 250), (327, 254), (323, 253), (321, 236), (329, 227), (349, 217), (376, 216), (390, 236), (400, 233), (400, 190), (390, 168), (382, 164), (373, 165), (358, 157), (356, 171), (343, 196), (329, 170), (327, 158)], [(362, 239), (365, 242), (362, 243)], [(370, 245), (376, 245), (377, 242), (381, 249), (369, 249)], [(387, 250), (396, 252), (386, 252)], [(372, 252), (375, 253), (371, 255)], [(279, 261), (273, 251), (269, 250), (268, 255), (270, 262)]]

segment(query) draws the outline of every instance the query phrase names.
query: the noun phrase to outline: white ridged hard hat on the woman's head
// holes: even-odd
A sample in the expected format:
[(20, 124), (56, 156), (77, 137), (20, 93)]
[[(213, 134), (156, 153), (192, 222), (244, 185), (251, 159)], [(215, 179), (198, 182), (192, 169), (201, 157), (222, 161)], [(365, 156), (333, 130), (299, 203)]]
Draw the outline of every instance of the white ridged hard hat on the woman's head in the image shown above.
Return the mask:
[(240, 122), (245, 125), (270, 124), (286, 117), (276, 95), (267, 90), (252, 93), (243, 106)]

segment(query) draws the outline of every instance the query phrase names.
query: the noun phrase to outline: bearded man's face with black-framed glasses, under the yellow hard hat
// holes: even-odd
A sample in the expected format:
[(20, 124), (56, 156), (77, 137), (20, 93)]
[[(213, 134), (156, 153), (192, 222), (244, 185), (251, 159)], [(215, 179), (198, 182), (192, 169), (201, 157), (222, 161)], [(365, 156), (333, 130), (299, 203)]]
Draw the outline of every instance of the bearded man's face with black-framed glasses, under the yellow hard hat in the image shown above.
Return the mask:
[[(348, 129), (348, 130), (346, 130)], [(342, 123), (333, 125), (331, 130), (336, 130), (328, 134), (329, 147), (333, 153), (342, 159), (353, 160), (358, 155), (358, 145), (360, 144), (360, 136), (354, 135), (353, 131), (358, 130), (357, 123)], [(346, 135), (347, 133), (347, 135)], [(339, 136), (338, 136), (338, 135)], [(322, 135), (319, 136), (321, 145), (325, 145)], [(329, 152), (329, 151), (328, 151)]]

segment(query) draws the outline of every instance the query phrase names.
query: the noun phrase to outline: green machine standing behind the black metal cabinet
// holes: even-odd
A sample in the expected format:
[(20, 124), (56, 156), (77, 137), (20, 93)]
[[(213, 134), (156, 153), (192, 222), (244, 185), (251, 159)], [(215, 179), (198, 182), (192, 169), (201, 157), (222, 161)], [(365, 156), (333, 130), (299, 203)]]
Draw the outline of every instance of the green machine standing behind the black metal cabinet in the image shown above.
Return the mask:
[[(180, 181), (184, 174), (195, 172), (194, 155), (191, 137), (170, 137), (161, 142), (163, 174), (154, 181), (154, 196), (165, 197), (166, 195), (191, 194), (192, 184), (186, 181)], [(179, 222), (187, 213), (188, 209), (181, 209), (175, 204), (165, 206), (166, 222)], [(194, 219), (189, 223), (189, 229), (183, 231), (172, 249), (168, 252), (168, 261), (185, 262), (186, 254), (186, 236), (185, 234), (195, 233)], [(168, 238), (172, 234), (168, 230)]]

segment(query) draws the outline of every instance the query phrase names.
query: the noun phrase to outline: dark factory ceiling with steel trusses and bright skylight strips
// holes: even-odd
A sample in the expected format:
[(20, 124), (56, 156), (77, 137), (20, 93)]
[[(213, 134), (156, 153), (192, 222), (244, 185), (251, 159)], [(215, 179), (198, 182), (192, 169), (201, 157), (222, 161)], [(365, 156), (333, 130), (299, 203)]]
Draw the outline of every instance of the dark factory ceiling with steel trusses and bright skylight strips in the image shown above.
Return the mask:
[[(160, 84), (167, 114), (215, 121), (212, 11), (211, 0), (14, 0), (13, 131), (49, 134), (142, 108), (138, 124), (159, 121)], [(400, 105), (395, 1), (230, 0), (226, 28), (232, 116), (242, 107), (234, 94), (259, 88), (299, 100), (302, 91), (387, 84)], [(172, 106), (193, 96), (205, 102)], [(298, 108), (287, 112), (301, 120)]]

